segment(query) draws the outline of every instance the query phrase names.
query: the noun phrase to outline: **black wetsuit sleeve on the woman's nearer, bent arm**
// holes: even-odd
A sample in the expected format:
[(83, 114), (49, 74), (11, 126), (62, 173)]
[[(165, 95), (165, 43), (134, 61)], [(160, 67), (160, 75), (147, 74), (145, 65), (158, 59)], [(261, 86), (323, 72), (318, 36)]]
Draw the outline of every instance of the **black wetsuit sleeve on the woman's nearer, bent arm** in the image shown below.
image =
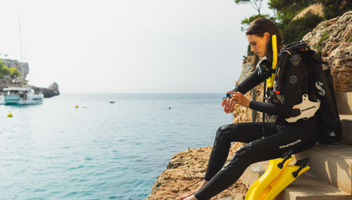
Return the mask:
[(287, 73), (284, 79), (281, 104), (275, 105), (260, 101), (250, 101), (249, 108), (268, 115), (279, 115), (282, 118), (291, 117), (292, 108), (301, 89), (303, 77), (306, 74), (306, 64), (298, 54), (293, 54), (286, 64)]

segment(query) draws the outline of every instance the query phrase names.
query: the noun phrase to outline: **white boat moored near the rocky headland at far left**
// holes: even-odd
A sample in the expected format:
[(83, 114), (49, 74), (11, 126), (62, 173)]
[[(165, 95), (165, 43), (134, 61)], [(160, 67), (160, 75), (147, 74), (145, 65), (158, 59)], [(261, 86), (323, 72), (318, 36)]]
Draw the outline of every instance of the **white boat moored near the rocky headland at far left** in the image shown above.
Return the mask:
[(29, 87), (7, 87), (3, 91), (5, 105), (43, 104), (44, 94), (35, 94)]

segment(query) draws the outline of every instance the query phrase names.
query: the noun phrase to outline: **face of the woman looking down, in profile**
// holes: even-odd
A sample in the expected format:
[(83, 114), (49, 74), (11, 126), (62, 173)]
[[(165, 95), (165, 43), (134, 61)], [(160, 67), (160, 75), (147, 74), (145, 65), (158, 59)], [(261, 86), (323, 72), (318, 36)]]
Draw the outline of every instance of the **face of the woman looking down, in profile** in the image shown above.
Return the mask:
[(260, 58), (266, 54), (266, 46), (269, 42), (269, 32), (265, 32), (263, 37), (258, 35), (246, 35), (249, 45), (251, 45), (251, 51), (258, 55)]

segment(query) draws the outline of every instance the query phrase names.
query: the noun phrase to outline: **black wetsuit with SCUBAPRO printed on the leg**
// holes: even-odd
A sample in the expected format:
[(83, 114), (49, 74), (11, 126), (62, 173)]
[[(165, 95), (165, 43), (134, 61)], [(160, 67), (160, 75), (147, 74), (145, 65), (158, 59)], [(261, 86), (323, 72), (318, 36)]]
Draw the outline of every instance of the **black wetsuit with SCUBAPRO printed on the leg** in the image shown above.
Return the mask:
[[(310, 149), (318, 142), (318, 118), (315, 115), (308, 120), (287, 123), (284, 118), (291, 116), (292, 107), (301, 101), (302, 87), (308, 80), (306, 65), (301, 56), (291, 56), (287, 61), (282, 80), (282, 103), (251, 101), (249, 108), (277, 115), (275, 123), (265, 123), (265, 135), (262, 138), (263, 123), (234, 123), (219, 127), (216, 132), (208, 169), (204, 180), (208, 183), (194, 195), (198, 200), (210, 199), (222, 190), (230, 187), (241, 177), (252, 163), (279, 158), (289, 149), (297, 154)], [(258, 68), (239, 84), (235, 91), (245, 94), (264, 80), (258, 75)], [(307, 83), (307, 82), (306, 82)], [(230, 151), (231, 142), (245, 142), (224, 166)]]

